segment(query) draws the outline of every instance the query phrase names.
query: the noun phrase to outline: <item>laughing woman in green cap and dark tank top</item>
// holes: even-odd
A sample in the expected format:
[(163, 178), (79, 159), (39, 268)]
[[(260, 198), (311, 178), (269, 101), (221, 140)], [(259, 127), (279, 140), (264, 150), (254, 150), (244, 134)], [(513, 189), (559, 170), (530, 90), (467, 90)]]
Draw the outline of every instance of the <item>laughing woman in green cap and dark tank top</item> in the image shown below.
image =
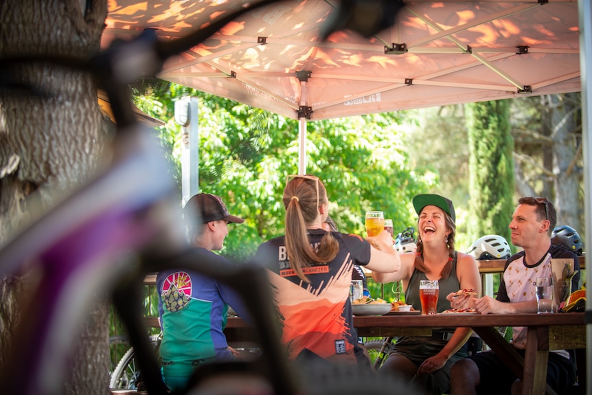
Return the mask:
[[(451, 308), (448, 295), (461, 289), (481, 293), (479, 267), (473, 256), (455, 251), (456, 215), (450, 199), (437, 194), (413, 198), (418, 213), (418, 243), (415, 252), (402, 253), (401, 270), (372, 273), (376, 282), (402, 280), (405, 302), (421, 310), (420, 280), (438, 280), (437, 312)], [(455, 361), (468, 356), (464, 347), (470, 328), (434, 330), (431, 337), (400, 337), (379, 372), (404, 376), (429, 394), (449, 394), (450, 370)]]

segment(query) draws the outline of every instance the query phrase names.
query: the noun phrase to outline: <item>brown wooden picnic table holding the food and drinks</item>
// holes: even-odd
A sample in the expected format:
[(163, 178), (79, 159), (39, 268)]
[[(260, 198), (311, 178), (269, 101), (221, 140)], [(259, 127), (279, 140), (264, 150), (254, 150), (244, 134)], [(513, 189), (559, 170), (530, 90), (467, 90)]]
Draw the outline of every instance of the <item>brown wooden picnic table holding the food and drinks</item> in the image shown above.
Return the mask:
[[(432, 328), (470, 327), (523, 380), (523, 394), (555, 394), (545, 384), (549, 350), (586, 348), (584, 313), (490, 315), (380, 315), (354, 317), (360, 337), (429, 336)], [(526, 326), (525, 357), (505, 341), (496, 327)], [(240, 318), (229, 317), (229, 341), (253, 339), (252, 329)], [(585, 361), (578, 361), (584, 363)], [(585, 369), (580, 369), (585, 390)], [(582, 392), (583, 393), (583, 392)]]

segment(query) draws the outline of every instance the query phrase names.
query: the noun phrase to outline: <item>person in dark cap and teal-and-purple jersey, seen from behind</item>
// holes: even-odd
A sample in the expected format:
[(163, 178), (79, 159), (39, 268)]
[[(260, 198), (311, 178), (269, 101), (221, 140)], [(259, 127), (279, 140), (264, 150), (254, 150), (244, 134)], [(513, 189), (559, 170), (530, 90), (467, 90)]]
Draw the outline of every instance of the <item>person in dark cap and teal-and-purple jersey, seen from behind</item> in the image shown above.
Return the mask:
[[(191, 245), (211, 254), (213, 262), (229, 264), (212, 251), (223, 248), (229, 223), (244, 219), (230, 215), (220, 196), (196, 194), (183, 209)], [(246, 316), (240, 297), (226, 284), (189, 270), (168, 269), (157, 275), (160, 347), (163, 380), (172, 391), (184, 390), (201, 363), (235, 359), (223, 329), (228, 306)]]

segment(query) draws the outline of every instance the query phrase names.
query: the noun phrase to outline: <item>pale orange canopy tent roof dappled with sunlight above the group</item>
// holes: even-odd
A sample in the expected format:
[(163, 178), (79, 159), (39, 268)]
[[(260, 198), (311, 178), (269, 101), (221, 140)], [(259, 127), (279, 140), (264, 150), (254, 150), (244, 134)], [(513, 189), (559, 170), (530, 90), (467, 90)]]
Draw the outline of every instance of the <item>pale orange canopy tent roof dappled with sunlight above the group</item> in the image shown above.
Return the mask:
[[(103, 43), (147, 27), (173, 39), (242, 3), (109, 0)], [(310, 120), (581, 89), (575, 0), (406, 1), (394, 27), (321, 42), (334, 3), (244, 14), (159, 78)]]

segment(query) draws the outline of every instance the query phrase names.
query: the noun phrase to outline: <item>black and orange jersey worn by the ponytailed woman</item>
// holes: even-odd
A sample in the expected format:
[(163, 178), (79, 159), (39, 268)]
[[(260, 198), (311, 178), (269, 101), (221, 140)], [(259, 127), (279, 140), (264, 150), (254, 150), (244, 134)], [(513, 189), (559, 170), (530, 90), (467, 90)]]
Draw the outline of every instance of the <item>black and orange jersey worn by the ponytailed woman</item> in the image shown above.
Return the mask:
[[(310, 244), (317, 245), (326, 233), (310, 229)], [(360, 236), (339, 232), (332, 235), (339, 242), (339, 253), (331, 262), (304, 268), (310, 283), (291, 269), (284, 236), (264, 242), (257, 251), (257, 260), (268, 264), (288, 359), (312, 352), (330, 361), (364, 363), (364, 357), (358, 354), (349, 295), (353, 265), (365, 266), (369, 262), (370, 245)]]

